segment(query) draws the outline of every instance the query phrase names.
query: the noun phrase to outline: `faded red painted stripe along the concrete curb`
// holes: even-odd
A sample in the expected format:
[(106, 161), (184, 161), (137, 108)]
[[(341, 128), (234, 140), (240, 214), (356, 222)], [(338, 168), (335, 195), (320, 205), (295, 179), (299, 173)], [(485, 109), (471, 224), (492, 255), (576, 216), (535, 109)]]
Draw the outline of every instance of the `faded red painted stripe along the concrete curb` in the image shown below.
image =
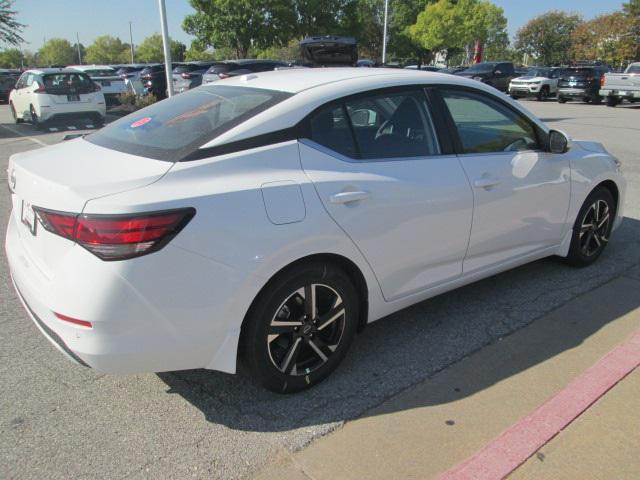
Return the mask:
[(438, 478), (497, 480), (506, 477), (638, 366), (640, 330), (527, 417)]

